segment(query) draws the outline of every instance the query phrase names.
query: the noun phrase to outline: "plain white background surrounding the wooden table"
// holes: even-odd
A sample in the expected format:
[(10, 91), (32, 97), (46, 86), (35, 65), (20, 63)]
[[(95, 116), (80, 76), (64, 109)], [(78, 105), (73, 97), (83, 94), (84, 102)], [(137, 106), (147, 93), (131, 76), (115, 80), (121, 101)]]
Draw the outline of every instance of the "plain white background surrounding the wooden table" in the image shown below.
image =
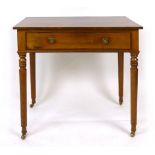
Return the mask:
[[(0, 150), (82, 155), (127, 153), (122, 147), (154, 151), (154, 13), (153, 0), (2, 0)], [(20, 139), (17, 37), (12, 27), (32, 16), (128, 16), (144, 27), (135, 138), (129, 137), (130, 55), (125, 55), (124, 104), (119, 106), (117, 54), (74, 53), (37, 55), (37, 103), (33, 109), (28, 106), (28, 136)], [(29, 55), (27, 76), (29, 105)]]

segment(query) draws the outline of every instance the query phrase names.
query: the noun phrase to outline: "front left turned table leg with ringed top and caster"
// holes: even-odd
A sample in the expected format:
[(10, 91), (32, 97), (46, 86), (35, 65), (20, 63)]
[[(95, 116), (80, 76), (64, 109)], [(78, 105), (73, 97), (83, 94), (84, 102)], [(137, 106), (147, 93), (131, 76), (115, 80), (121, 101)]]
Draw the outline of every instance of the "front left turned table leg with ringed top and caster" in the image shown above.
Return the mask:
[(19, 52), (19, 79), (20, 79), (20, 106), (22, 139), (26, 138), (27, 126), (27, 79), (26, 79), (26, 53)]

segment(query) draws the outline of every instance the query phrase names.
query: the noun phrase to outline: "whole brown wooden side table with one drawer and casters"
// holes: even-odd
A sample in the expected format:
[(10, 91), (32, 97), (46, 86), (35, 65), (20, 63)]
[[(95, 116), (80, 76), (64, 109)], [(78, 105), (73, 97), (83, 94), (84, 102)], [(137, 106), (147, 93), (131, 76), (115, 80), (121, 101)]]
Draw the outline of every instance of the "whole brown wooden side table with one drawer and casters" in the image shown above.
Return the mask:
[(30, 55), (31, 97), (36, 102), (35, 53), (117, 52), (119, 104), (123, 102), (124, 53), (131, 55), (131, 137), (137, 124), (139, 29), (127, 17), (29, 17), (17, 29), (22, 139), (27, 126), (26, 54)]

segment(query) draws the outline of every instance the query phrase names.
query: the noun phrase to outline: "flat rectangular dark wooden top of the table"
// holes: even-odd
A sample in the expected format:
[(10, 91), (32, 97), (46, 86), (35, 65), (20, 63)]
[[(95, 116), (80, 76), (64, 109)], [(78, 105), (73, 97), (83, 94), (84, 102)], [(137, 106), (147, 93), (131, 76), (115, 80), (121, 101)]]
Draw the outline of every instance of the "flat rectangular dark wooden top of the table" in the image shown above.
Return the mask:
[(142, 29), (124, 16), (27, 17), (13, 29)]

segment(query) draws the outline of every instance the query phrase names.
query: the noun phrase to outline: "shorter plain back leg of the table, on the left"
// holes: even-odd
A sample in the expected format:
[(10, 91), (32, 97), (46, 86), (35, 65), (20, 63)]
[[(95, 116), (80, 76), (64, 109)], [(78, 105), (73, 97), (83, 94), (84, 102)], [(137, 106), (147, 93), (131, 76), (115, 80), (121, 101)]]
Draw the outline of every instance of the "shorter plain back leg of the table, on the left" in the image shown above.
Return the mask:
[(32, 103), (30, 104), (30, 107), (32, 108), (36, 103), (35, 53), (30, 53), (30, 79), (31, 79), (31, 98), (32, 98)]

